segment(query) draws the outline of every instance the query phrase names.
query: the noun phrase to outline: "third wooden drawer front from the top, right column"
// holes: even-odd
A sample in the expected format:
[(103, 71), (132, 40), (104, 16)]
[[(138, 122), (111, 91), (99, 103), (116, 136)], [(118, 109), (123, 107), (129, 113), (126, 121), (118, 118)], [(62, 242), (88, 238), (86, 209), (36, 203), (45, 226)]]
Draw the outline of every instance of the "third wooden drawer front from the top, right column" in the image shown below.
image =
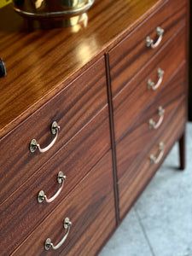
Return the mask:
[[(160, 132), (166, 129), (179, 102), (183, 101), (185, 70), (186, 65), (183, 65), (172, 80), (166, 84), (160, 95), (154, 98), (148, 109), (138, 117), (126, 136), (117, 144), (118, 179), (125, 174), (127, 166), (131, 166), (133, 161), (137, 161), (138, 155), (143, 153), (143, 147), (150, 148), (150, 145), (160, 136)], [(160, 107), (165, 110), (162, 115), (163, 119), (158, 113)], [(162, 123), (158, 129), (150, 129), (149, 119), (153, 119), (155, 123), (162, 119)]]

